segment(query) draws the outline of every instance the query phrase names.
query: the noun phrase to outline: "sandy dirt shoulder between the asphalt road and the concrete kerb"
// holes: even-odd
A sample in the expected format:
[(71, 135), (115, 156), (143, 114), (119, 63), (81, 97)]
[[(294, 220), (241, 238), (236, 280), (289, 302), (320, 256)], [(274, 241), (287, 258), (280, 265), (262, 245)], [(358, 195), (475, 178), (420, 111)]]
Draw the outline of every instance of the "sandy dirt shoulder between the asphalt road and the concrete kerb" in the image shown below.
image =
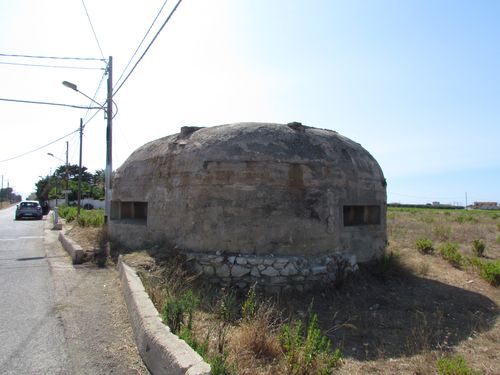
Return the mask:
[[(96, 231), (65, 229), (84, 248), (93, 248)], [(118, 272), (113, 265), (71, 265), (57, 234), (46, 230), (45, 247), (74, 373), (149, 374), (133, 339)]]

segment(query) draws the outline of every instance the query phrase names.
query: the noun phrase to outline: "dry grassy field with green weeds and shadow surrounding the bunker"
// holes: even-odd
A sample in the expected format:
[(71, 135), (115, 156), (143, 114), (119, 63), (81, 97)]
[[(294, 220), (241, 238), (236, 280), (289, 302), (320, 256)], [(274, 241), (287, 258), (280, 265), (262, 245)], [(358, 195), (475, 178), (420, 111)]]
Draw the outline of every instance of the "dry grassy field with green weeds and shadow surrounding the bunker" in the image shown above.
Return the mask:
[(127, 261), (215, 374), (500, 374), (500, 212), (387, 217), (385, 257), (304, 294), (209, 288), (161, 249)]

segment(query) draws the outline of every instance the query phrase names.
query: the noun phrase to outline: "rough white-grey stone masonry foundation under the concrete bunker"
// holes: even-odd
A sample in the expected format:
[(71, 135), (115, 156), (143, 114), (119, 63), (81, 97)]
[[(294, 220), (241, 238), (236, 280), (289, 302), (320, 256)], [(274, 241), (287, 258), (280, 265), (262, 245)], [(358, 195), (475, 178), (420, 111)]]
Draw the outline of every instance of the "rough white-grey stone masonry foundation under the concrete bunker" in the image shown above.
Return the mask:
[(188, 264), (213, 284), (241, 289), (256, 284), (270, 292), (303, 291), (317, 284), (335, 284), (358, 269), (356, 256), (242, 255), (187, 253)]

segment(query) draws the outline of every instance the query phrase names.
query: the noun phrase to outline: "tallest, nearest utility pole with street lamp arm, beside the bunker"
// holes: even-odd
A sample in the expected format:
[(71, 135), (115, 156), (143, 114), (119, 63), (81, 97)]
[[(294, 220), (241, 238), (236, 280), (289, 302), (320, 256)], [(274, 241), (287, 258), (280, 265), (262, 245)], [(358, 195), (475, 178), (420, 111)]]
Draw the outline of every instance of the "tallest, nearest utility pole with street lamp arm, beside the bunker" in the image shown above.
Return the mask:
[(93, 103), (99, 105), (100, 109), (105, 111), (106, 114), (106, 120), (107, 120), (107, 126), (106, 126), (106, 169), (104, 170), (104, 196), (105, 196), (105, 201), (104, 201), (104, 222), (107, 223), (109, 216), (110, 216), (110, 210), (111, 210), (111, 173), (113, 171), (113, 150), (112, 150), (112, 136), (113, 136), (113, 57), (109, 56), (108, 60), (108, 66), (107, 66), (107, 73), (108, 73), (108, 93), (107, 93), (107, 98), (106, 98), (106, 106), (96, 102), (94, 99), (92, 99), (90, 96), (84, 94), (80, 90), (78, 90), (78, 86), (75, 85), (74, 83), (68, 82), (68, 81), (63, 81), (63, 85), (82, 94), (85, 96), (87, 99), (92, 101)]

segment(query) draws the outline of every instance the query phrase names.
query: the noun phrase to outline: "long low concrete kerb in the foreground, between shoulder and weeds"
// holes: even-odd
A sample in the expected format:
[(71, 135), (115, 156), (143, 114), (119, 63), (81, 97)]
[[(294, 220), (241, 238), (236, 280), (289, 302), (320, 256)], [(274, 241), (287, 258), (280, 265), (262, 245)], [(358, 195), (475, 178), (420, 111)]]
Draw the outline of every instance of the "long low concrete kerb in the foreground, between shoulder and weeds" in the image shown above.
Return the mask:
[(137, 273), (118, 258), (122, 292), (139, 353), (152, 374), (208, 375), (210, 365), (163, 324)]

